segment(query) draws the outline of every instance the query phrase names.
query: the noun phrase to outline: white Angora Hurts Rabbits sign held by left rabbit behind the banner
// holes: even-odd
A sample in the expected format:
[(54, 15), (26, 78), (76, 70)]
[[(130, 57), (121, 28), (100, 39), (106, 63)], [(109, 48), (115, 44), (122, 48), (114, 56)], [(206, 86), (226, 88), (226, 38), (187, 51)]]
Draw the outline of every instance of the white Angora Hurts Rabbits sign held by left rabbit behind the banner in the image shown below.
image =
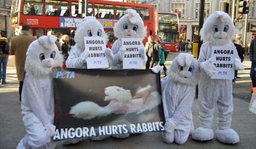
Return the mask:
[(88, 50), (87, 68), (108, 68), (108, 58), (106, 57), (106, 41), (100, 37), (85, 37), (85, 50)]

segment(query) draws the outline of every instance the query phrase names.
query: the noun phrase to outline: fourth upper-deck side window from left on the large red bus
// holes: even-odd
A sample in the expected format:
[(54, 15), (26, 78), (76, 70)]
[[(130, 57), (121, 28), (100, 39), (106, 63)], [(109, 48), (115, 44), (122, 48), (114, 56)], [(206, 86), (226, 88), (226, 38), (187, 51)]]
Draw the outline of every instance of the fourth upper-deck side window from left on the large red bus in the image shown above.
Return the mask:
[(96, 18), (114, 18), (114, 6), (108, 4), (95, 4)]

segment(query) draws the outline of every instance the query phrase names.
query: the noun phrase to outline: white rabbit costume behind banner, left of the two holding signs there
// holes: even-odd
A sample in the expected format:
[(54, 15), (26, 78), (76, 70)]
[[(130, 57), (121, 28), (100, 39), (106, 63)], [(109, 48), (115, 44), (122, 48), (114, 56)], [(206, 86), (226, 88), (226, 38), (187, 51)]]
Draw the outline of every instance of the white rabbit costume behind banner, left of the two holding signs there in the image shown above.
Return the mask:
[[(75, 30), (75, 46), (72, 47), (67, 58), (67, 68), (87, 69), (88, 51), (85, 50), (84, 37), (103, 37), (106, 42), (108, 41), (108, 35), (95, 17), (83, 18), (83, 22)], [(108, 60), (112, 59), (113, 55), (109, 48), (105, 49), (105, 53)]]

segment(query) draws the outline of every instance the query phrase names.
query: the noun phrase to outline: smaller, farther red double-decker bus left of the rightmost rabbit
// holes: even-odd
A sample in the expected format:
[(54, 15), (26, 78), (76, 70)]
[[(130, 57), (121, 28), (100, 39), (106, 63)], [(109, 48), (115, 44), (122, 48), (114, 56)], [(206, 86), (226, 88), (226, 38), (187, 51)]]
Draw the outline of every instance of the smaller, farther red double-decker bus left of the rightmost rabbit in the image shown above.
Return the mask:
[(155, 12), (155, 38), (164, 50), (179, 51), (179, 17), (175, 13)]

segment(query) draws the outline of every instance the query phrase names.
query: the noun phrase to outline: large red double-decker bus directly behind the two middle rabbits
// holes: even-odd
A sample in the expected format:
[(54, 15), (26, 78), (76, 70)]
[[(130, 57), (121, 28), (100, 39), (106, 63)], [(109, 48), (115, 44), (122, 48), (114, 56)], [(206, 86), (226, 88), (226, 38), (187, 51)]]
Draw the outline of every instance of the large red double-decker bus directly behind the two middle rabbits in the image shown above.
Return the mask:
[[(75, 30), (85, 13), (82, 12), (81, 0), (12, 0), (11, 36), (18, 35), (22, 24), (33, 28), (34, 36), (45, 35), (49, 30), (54, 33), (70, 34)], [(155, 7), (148, 4), (130, 2), (88, 0), (87, 16), (95, 16), (109, 35), (108, 46), (114, 42), (114, 23), (127, 9), (135, 9), (148, 28), (148, 35), (155, 34)]]

